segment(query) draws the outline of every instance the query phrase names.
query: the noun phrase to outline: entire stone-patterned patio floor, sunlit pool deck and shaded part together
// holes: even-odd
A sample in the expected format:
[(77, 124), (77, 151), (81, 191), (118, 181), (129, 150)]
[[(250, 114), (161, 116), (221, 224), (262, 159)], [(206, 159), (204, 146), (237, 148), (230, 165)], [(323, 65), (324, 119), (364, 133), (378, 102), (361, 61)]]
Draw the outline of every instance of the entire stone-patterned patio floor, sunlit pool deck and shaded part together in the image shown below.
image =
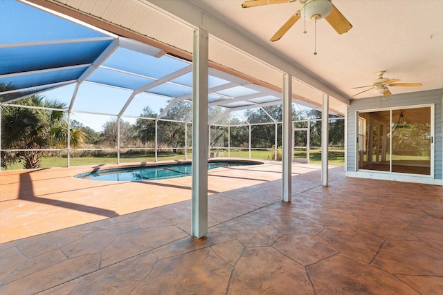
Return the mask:
[(279, 163), (216, 169), (197, 240), (190, 177), (84, 170), (1, 172), (1, 294), (442, 294), (440, 186), (293, 163), (285, 203)]

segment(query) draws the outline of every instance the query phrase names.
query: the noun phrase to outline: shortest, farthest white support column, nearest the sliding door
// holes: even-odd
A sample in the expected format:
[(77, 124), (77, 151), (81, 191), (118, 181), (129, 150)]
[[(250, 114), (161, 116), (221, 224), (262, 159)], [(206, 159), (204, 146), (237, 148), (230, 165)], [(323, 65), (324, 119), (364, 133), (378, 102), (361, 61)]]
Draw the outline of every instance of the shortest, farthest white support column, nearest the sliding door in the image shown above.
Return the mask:
[(328, 186), (329, 95), (323, 94), (321, 108), (321, 185)]

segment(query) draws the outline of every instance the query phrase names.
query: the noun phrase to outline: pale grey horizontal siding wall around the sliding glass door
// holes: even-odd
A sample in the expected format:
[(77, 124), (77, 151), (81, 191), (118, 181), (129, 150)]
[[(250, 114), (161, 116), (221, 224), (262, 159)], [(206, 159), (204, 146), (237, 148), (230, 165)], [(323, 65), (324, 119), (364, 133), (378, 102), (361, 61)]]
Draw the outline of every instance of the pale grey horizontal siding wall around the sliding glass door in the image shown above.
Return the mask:
[(434, 178), (443, 179), (443, 137), (442, 130), (442, 90), (418, 91), (414, 93), (404, 93), (390, 95), (389, 97), (372, 97), (367, 99), (355, 99), (350, 102), (347, 112), (347, 170), (356, 170), (356, 122), (355, 112), (364, 110), (374, 110), (379, 108), (401, 108), (420, 104), (434, 104), (435, 117), (435, 175)]

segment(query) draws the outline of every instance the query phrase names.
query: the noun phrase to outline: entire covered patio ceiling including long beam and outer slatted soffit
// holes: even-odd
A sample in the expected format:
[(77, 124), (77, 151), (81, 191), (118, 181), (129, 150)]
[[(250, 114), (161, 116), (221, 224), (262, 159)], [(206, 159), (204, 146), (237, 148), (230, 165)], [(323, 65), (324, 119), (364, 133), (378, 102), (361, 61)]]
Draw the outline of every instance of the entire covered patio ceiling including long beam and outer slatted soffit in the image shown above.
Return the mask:
[(290, 73), (294, 97), (319, 105), (328, 93), (335, 98), (329, 107), (338, 113), (348, 99), (376, 96), (368, 91), (352, 97), (365, 89), (352, 87), (370, 85), (379, 70), (386, 70), (384, 77), (423, 84), (390, 87), (393, 95), (443, 87), (442, 0), (333, 0), (353, 28), (338, 35), (327, 21), (318, 21), (318, 55), (311, 21), (307, 34), (300, 19), (282, 39), (269, 41), (300, 8), (298, 1), (255, 8), (242, 8), (243, 0), (29, 1), (125, 37), (160, 41), (172, 53), (192, 53), (192, 30), (204, 28), (215, 64), (277, 88), (281, 73)]

